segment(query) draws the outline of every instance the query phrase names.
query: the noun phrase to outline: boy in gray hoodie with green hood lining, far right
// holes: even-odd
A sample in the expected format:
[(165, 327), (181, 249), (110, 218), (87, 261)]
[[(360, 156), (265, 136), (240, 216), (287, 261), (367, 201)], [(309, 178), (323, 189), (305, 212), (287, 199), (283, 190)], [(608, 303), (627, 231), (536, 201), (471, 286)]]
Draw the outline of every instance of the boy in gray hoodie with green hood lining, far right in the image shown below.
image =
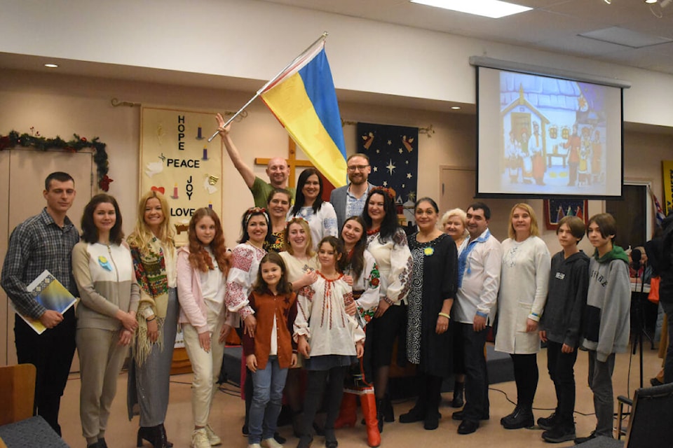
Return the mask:
[(589, 386), (594, 393), (597, 423), (591, 435), (576, 438), (576, 443), (598, 435), (612, 438), (612, 372), (615, 353), (627, 349), (631, 307), (629, 258), (623, 248), (613, 244), (616, 233), (611, 214), (590, 218), (587, 237), (596, 251), (589, 264), (582, 346), (589, 351)]

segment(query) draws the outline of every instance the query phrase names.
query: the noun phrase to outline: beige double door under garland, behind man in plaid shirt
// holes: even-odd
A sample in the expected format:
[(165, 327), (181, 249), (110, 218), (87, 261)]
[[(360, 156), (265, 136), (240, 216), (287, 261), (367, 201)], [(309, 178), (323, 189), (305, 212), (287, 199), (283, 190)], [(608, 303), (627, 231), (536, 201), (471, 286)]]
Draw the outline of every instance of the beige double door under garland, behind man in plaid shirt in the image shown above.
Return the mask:
[[(38, 214), (46, 202), (42, 196), (44, 179), (50, 173), (62, 171), (75, 180), (76, 197), (68, 212), (72, 222), (80, 227), (82, 211), (93, 196), (95, 165), (93, 153), (81, 151), (36, 151), (13, 149), (2, 151), (0, 157), (0, 259), (4, 260), (12, 230), (29, 216)], [(16, 363), (14, 346), (14, 311), (4, 290), (0, 288), (0, 365)], [(75, 356), (73, 371), (79, 371)]]

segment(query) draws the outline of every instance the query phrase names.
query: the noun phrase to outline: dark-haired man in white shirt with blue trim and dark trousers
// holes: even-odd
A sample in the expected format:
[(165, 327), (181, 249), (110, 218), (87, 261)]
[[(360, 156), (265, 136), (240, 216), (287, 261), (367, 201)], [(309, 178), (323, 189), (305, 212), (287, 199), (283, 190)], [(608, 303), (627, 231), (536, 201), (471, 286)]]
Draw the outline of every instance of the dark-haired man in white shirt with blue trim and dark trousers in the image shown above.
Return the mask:
[(458, 293), (454, 301), (454, 325), (463, 342), (465, 357), (465, 407), (454, 412), (462, 420), (458, 434), (474, 433), (480, 420), (489, 419), (489, 379), (484, 345), (496, 315), (503, 251), (489, 232), (491, 209), (483, 202), (468, 207), (470, 240), (458, 254)]

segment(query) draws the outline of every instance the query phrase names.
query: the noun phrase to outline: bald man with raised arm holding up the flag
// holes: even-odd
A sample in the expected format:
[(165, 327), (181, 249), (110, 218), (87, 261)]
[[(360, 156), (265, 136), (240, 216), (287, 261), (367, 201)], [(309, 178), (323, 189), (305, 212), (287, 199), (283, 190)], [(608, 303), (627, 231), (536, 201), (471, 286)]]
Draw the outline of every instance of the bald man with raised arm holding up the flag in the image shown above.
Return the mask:
[(271, 193), (274, 188), (286, 188), (287, 190), (290, 190), (292, 198), (294, 199), (294, 187), (287, 188), (287, 176), (290, 174), (290, 167), (287, 165), (287, 160), (280, 157), (271, 158), (271, 160), (268, 161), (268, 165), (266, 165), (266, 175), (268, 176), (269, 182), (264, 182), (262, 179), (255, 176), (252, 169), (245, 165), (243, 159), (240, 158), (240, 153), (229, 135), (229, 128), (231, 125), (223, 127), (224, 118), (222, 118), (219, 113), (217, 114), (216, 119), (219, 137), (222, 137), (224, 148), (226, 148), (226, 153), (229, 154), (233, 166), (238, 169), (247, 188), (250, 188), (252, 197), (254, 197), (254, 207), (266, 207), (266, 197), (268, 197), (268, 194)]

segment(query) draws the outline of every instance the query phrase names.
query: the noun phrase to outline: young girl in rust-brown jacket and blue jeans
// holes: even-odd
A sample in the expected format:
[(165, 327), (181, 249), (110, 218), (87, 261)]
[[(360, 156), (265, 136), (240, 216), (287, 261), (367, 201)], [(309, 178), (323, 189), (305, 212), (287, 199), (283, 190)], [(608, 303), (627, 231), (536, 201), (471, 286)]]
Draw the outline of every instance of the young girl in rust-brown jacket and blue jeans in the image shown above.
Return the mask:
[(257, 316), (254, 337), (243, 335), (245, 363), (253, 378), (248, 448), (281, 447), (273, 438), (283, 404), (288, 367), (297, 364), (297, 346), (292, 340), (297, 316), (297, 295), (287, 281), (285, 263), (278, 253), (264, 255), (257, 281), (250, 294), (250, 307)]

